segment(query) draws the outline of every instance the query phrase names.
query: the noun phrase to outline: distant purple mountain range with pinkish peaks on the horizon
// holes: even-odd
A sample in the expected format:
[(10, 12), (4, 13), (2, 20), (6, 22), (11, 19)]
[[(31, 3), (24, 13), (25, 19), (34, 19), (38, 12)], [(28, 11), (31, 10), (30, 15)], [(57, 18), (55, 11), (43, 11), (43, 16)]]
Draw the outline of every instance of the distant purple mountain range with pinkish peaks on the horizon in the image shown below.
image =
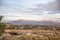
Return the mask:
[(51, 21), (51, 20), (42, 20), (42, 21), (34, 21), (34, 20), (15, 20), (8, 21), (7, 23), (15, 24), (15, 25), (59, 25), (59, 22)]

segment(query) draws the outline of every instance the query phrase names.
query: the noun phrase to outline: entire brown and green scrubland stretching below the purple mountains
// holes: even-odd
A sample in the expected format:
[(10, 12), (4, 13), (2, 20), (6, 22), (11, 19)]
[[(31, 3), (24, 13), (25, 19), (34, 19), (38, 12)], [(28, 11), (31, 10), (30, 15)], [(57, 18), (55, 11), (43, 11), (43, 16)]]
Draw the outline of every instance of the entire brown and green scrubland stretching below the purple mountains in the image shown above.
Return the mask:
[(1, 20), (0, 40), (60, 40), (60, 25), (12, 25)]

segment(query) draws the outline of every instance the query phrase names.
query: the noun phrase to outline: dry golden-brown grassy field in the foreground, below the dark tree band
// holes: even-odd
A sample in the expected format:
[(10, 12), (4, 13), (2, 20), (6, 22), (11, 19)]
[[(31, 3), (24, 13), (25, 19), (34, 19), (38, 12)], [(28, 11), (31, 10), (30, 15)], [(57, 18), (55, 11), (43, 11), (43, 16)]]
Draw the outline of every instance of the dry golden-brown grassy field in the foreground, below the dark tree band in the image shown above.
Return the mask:
[(60, 32), (59, 30), (5, 30), (2, 38), (5, 40), (60, 40)]

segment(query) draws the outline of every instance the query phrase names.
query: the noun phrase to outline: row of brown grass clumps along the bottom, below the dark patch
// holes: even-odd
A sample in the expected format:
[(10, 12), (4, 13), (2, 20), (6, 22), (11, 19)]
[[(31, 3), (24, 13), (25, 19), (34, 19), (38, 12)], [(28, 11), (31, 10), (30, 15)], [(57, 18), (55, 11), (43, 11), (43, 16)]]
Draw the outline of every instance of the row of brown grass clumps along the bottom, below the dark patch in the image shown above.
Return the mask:
[(27, 33), (18, 37), (16, 35), (11, 36), (9, 34), (4, 34), (2, 36), (2, 40), (60, 40), (60, 36), (47, 36)]

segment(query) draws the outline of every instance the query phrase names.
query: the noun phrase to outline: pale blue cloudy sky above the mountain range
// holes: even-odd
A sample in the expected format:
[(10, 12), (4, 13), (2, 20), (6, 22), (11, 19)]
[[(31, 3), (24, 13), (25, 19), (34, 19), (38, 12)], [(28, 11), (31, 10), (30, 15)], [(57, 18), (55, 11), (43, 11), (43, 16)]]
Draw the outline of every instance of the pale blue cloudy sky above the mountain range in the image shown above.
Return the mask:
[(4, 20), (60, 20), (54, 0), (0, 0)]

